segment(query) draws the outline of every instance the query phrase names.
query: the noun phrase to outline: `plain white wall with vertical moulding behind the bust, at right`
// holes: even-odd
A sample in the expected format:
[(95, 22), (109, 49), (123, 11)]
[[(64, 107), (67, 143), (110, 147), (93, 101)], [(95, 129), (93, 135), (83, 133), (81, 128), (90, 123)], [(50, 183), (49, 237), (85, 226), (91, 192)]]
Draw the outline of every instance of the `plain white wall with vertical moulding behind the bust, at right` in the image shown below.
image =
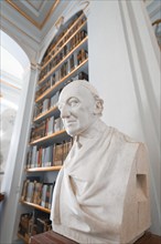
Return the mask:
[(90, 1), (89, 79), (105, 101), (103, 120), (148, 145), (151, 231), (160, 218), (159, 49), (141, 1)]

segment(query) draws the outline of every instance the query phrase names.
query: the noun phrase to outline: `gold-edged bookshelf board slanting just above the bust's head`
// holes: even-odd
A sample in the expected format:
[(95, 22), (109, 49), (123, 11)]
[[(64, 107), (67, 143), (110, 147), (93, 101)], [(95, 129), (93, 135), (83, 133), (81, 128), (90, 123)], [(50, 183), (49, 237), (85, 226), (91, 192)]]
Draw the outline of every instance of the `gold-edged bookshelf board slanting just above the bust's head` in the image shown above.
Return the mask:
[(52, 94), (54, 94), (58, 89), (64, 87), (65, 81), (74, 75), (77, 71), (82, 71), (82, 69), (87, 64), (88, 59), (84, 60), (79, 65), (77, 65), (71, 73), (65, 75), (63, 79), (61, 79), (58, 82), (56, 82), (52, 88), (47, 89), (42, 95), (40, 95), (35, 102), (40, 102), (46, 98), (50, 98)]

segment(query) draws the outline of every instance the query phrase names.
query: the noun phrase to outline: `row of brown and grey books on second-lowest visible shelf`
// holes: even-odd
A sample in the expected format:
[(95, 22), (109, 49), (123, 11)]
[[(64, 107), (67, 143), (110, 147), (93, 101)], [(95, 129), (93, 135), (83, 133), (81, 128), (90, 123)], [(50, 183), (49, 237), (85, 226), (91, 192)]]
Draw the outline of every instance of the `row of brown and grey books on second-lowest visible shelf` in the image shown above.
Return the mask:
[(25, 179), (23, 181), (21, 201), (34, 203), (45, 209), (51, 209), (54, 183), (42, 183)]

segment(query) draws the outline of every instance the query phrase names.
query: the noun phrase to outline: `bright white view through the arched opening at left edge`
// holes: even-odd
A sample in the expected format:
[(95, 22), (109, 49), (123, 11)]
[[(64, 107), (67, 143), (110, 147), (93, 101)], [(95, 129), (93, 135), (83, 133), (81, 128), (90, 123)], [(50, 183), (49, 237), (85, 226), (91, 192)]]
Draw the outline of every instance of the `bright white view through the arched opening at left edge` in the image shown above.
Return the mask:
[[(15, 119), (21, 113), (22, 93), (25, 87), (26, 72), (29, 72), (30, 61), (21, 47), (7, 33), (0, 30), (0, 159), (1, 159), (1, 184), (8, 182), (12, 175), (7, 172), (7, 164), (10, 153), (10, 145), (14, 130)], [(19, 123), (19, 121), (18, 121)]]

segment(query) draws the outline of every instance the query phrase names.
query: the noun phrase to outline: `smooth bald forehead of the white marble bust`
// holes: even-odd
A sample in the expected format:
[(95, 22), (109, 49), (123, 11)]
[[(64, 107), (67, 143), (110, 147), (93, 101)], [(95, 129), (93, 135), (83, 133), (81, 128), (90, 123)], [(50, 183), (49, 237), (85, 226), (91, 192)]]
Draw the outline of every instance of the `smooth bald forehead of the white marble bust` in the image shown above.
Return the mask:
[(93, 95), (90, 91), (83, 85), (67, 85), (60, 94), (58, 102), (66, 102), (71, 98), (77, 98), (80, 101), (90, 100)]

